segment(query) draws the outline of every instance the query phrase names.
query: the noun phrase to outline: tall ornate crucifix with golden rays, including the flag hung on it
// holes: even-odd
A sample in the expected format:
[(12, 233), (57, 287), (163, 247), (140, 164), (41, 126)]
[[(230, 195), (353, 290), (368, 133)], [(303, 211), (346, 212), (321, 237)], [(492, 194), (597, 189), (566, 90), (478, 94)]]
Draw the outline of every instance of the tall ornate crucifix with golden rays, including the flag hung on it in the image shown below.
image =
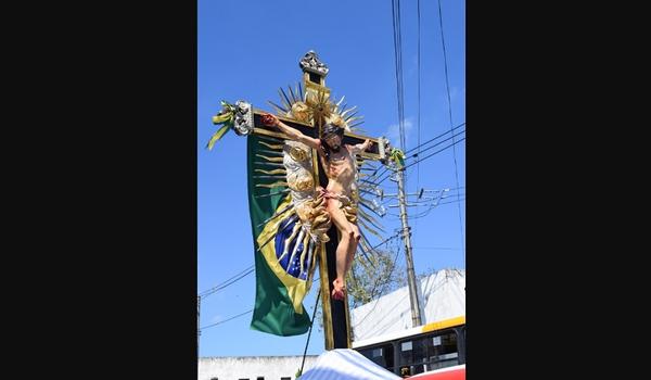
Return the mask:
[[(255, 248), (256, 303), (252, 329), (278, 335), (307, 331), (303, 300), (319, 262), (326, 349), (350, 347), (346, 274), (355, 253), (372, 251), (365, 230), (376, 220), (359, 183), (358, 169), (369, 161), (385, 163), (392, 149), (385, 138), (356, 132), (361, 124), (343, 98), (334, 102), (326, 87), (329, 68), (314, 51), (301, 60), (303, 80), (276, 114), (245, 101), (222, 101), (213, 117), (226, 131), (247, 136), (248, 204)], [(304, 91), (305, 89), (305, 91)], [(368, 193), (368, 191), (366, 191)]]

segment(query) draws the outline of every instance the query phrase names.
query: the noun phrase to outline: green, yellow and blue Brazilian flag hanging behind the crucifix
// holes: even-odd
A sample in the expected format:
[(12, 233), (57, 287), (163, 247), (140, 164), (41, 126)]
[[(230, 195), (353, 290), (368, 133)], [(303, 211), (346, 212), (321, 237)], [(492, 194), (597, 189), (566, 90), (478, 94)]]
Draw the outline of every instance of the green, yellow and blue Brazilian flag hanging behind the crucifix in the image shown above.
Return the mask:
[(308, 248), (311, 252), (316, 249), (309, 237), (299, 232), (301, 220), (292, 212), (284, 176), (273, 176), (284, 169), (282, 145), (282, 140), (247, 137), (248, 210), (256, 274), (251, 328), (286, 337), (305, 333), (309, 328), (303, 299), (311, 283), (316, 255), (305, 253)]

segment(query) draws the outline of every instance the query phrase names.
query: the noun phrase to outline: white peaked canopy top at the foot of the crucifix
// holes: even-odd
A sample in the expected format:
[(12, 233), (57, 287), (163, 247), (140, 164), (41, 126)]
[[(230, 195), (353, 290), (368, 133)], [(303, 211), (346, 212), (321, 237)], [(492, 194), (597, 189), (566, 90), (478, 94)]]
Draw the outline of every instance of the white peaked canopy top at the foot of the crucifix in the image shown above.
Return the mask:
[(399, 376), (387, 371), (367, 359), (357, 351), (337, 349), (322, 353), (314, 367), (298, 380), (399, 380)]

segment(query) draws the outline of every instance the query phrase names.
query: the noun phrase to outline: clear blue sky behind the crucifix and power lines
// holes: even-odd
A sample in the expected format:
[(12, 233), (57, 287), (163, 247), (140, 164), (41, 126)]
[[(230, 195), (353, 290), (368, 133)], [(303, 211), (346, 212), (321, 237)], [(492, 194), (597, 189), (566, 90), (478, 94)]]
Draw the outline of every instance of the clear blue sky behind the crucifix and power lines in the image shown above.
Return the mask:
[[(452, 123), (465, 122), (465, 2), (441, 0), (448, 60)], [(420, 139), (449, 130), (438, 3), (421, 0)], [(403, 72), (407, 150), (418, 143), (417, 1), (401, 1)], [(246, 139), (229, 131), (213, 151), (205, 144), (217, 130), (212, 116), (219, 101), (242, 99), (271, 111), (278, 88), (301, 80), (299, 59), (310, 49), (330, 67), (326, 85), (346, 97), (363, 115), (361, 126), (373, 136), (399, 144), (393, 46), (392, 2), (297, 0), (199, 0), (197, 59), (197, 288), (204, 291), (253, 264), (253, 241), (246, 199)], [(441, 145), (443, 147), (443, 145)], [(427, 153), (434, 152), (430, 150)], [(425, 153), (423, 153), (423, 156)], [(465, 187), (465, 141), (456, 145), (459, 186)], [(407, 187), (417, 190), (456, 188), (452, 149), (407, 170)], [(395, 182), (382, 183), (385, 193)], [(462, 189), (462, 193), (465, 190)], [(463, 199), (464, 197), (462, 197)], [(448, 201), (454, 201), (450, 198)], [(386, 204), (395, 204), (387, 202)], [(459, 213), (458, 204), (461, 206)], [(410, 207), (416, 215), (425, 208)], [(397, 213), (397, 208), (390, 208)], [(461, 216), (461, 226), (459, 218)], [(381, 220), (387, 236), (397, 217)], [(464, 268), (465, 201), (441, 204), (410, 221), (417, 273)], [(371, 238), (372, 241), (375, 241)], [(399, 256), (404, 262), (404, 255)], [(304, 305), (310, 312), (318, 282)], [(202, 302), (201, 326), (247, 312), (255, 302), (255, 275), (214, 293)], [(302, 355), (307, 334), (276, 337), (251, 330), (251, 314), (202, 331), (200, 356)], [(323, 334), (312, 331), (308, 354), (323, 351)]]

